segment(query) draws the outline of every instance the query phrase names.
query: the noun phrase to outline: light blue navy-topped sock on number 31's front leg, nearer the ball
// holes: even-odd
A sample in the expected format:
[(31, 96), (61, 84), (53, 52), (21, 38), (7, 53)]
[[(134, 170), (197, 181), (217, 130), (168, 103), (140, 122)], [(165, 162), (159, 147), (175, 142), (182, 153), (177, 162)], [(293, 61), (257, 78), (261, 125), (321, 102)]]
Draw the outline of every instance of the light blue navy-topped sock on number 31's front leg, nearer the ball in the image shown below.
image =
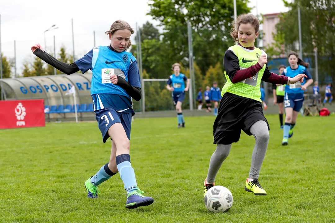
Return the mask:
[(130, 155), (125, 153), (116, 156), (116, 164), (127, 193), (129, 194), (132, 191), (137, 190), (135, 172), (134, 169), (131, 167)]

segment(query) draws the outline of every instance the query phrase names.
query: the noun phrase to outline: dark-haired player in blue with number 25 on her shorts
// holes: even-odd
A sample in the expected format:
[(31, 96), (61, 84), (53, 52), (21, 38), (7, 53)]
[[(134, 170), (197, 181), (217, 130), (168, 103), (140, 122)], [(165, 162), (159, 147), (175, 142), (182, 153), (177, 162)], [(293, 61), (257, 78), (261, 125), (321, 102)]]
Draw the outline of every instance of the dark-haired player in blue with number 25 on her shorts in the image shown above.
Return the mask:
[(284, 69), (282, 75), (290, 78), (298, 74), (305, 74), (306, 79), (302, 83), (296, 82), (295, 84), (288, 83), (285, 87), (284, 107), (285, 107), (285, 124), (282, 145), (288, 144), (288, 138), (293, 135), (293, 128), (295, 126), (298, 113), (303, 106), (304, 91), (313, 83), (312, 76), (308, 72), (308, 63), (302, 61), (296, 52), (288, 53), (288, 62), (290, 66)]

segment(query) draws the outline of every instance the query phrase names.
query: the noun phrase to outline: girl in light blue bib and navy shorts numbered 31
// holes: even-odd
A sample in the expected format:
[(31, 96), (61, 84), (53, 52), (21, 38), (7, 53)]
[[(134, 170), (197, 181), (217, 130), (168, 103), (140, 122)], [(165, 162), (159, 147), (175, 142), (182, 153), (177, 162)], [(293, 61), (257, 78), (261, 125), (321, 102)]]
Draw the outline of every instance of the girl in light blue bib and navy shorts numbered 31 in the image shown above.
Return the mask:
[(31, 47), (39, 58), (65, 74), (91, 70), (91, 95), (95, 119), (102, 133), (103, 142), (112, 140), (110, 160), (85, 182), (88, 198), (97, 198), (98, 185), (120, 172), (127, 192), (126, 208), (133, 209), (153, 203), (137, 187), (135, 172), (130, 163), (131, 117), (135, 114), (131, 97), (141, 99), (141, 82), (136, 58), (127, 52), (134, 30), (123, 21), (115, 21), (106, 32), (109, 46), (97, 46), (72, 64), (66, 64), (44, 52), (40, 44)]

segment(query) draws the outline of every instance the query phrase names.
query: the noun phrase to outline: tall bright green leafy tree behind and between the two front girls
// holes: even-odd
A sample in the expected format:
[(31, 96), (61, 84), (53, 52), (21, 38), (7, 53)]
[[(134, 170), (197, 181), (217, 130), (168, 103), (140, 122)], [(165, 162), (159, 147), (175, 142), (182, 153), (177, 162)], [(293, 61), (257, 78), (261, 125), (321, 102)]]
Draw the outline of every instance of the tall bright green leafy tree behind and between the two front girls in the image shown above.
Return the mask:
[[(250, 12), (248, 0), (237, 1), (237, 11)], [(163, 43), (169, 48), (168, 61), (188, 61), (187, 22), (192, 27), (194, 61), (202, 73), (209, 66), (223, 60), (225, 50), (233, 45), (229, 35), (233, 20), (233, 0), (171, 1), (153, 0), (149, 3), (151, 15), (164, 27)], [(172, 53), (172, 54), (171, 54)]]

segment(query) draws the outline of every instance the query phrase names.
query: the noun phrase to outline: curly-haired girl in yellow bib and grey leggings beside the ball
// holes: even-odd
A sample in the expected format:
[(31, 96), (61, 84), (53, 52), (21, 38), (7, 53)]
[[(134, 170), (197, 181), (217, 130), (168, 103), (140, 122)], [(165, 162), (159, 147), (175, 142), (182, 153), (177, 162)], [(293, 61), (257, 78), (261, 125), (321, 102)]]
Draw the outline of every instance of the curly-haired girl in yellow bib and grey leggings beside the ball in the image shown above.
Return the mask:
[(217, 147), (209, 162), (204, 195), (214, 186), (216, 174), (229, 154), (231, 143), (239, 141), (241, 130), (254, 135), (256, 140), (245, 190), (255, 195), (266, 195), (258, 177), (269, 142), (270, 128), (262, 110), (260, 84), (261, 81), (272, 84), (301, 82), (306, 75), (298, 74), (288, 78), (269, 71), (266, 53), (254, 47), (259, 34), (256, 16), (242, 14), (232, 24), (230, 34), (239, 44), (229, 47), (224, 54), (227, 82), (222, 88), (222, 99), (213, 126), (214, 144)]

